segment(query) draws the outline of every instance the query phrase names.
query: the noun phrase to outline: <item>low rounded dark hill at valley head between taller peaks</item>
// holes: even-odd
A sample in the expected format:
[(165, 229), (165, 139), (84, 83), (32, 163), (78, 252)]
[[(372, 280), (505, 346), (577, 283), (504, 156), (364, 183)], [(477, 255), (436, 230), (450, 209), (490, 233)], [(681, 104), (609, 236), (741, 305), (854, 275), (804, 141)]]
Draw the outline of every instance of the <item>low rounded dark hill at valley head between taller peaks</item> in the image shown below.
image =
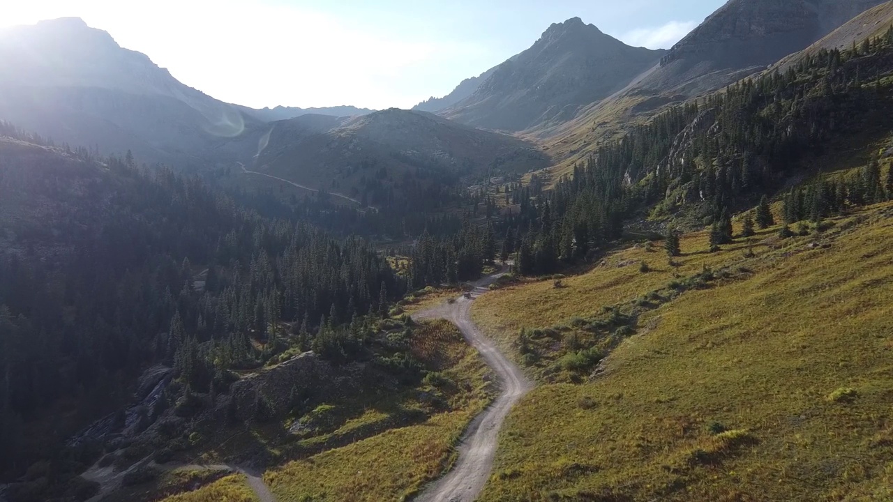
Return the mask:
[(521, 139), (398, 109), (348, 120), (305, 115), (274, 122), (262, 144), (255, 172), (363, 199), (364, 205), (388, 205), (395, 193), (437, 204), (424, 189), (451, 190), (459, 180), (549, 163)]

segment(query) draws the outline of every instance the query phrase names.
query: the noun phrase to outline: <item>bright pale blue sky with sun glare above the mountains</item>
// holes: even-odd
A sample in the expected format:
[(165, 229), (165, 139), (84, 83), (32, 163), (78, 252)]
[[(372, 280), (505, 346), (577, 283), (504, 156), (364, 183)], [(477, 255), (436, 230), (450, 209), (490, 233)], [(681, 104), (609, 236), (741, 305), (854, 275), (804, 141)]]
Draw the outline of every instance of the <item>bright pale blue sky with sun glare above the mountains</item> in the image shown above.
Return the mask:
[(0, 0), (0, 27), (80, 17), (217, 99), (409, 108), (580, 17), (669, 48), (725, 0)]

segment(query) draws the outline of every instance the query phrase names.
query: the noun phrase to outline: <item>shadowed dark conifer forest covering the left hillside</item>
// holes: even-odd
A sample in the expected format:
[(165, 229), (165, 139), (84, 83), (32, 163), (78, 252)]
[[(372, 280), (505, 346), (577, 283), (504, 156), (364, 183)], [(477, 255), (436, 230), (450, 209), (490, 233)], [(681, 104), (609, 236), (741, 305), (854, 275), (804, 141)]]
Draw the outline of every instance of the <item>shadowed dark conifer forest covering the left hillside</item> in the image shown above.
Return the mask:
[(0, 229), (3, 471), (126, 402), (148, 365), (176, 364), (207, 392), (221, 372), (292, 347), (345, 357), (362, 350), (346, 324), (405, 293), (362, 239), (265, 219), (200, 180), (6, 124)]

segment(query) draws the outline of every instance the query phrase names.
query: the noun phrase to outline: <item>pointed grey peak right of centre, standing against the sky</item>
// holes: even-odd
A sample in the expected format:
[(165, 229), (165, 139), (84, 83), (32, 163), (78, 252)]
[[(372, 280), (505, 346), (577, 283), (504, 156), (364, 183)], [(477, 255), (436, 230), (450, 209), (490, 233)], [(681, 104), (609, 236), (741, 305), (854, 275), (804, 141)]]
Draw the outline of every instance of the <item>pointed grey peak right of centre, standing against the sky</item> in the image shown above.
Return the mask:
[(471, 96), (440, 113), (493, 130), (567, 121), (582, 106), (623, 88), (664, 53), (627, 46), (573, 18), (550, 26), (529, 49), (491, 70)]

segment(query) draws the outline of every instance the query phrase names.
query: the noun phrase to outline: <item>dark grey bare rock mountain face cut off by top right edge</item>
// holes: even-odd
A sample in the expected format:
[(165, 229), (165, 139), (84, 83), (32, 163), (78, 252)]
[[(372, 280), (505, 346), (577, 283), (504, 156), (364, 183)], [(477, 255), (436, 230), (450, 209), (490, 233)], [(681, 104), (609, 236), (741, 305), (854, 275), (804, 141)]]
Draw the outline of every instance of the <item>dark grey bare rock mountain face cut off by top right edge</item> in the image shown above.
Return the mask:
[(663, 57), (638, 90), (693, 96), (763, 70), (884, 0), (730, 0)]

